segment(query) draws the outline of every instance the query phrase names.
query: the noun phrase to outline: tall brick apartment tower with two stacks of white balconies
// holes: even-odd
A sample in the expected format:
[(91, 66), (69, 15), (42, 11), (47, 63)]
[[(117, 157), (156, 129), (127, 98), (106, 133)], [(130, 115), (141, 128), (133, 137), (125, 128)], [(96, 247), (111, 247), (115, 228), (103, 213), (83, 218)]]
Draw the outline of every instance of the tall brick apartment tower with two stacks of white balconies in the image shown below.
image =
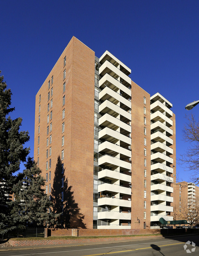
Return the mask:
[(64, 227), (158, 228), (161, 217), (172, 220), (172, 104), (150, 97), (130, 73), (110, 52), (97, 58), (73, 37), (36, 95), (34, 159)]

